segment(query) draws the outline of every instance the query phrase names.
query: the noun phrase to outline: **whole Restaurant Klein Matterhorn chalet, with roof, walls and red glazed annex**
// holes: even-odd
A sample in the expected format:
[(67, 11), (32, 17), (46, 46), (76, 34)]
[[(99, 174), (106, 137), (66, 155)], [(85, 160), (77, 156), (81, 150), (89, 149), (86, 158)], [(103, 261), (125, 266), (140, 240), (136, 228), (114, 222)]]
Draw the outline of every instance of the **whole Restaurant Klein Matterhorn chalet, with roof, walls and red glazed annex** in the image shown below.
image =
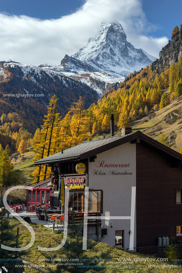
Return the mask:
[[(156, 246), (158, 237), (171, 231), (182, 241), (182, 155), (131, 128), (111, 135), (36, 161), (35, 166), (52, 167), (57, 185), (51, 179), (34, 184), (27, 191), (29, 211), (42, 201), (45, 208), (58, 205), (63, 177), (69, 216), (83, 216), (84, 188), (89, 187), (88, 216), (102, 219), (88, 220), (88, 232), (97, 239), (104, 234), (102, 242), (125, 249), (131, 242), (134, 248)], [(85, 165), (81, 174), (79, 163)]]

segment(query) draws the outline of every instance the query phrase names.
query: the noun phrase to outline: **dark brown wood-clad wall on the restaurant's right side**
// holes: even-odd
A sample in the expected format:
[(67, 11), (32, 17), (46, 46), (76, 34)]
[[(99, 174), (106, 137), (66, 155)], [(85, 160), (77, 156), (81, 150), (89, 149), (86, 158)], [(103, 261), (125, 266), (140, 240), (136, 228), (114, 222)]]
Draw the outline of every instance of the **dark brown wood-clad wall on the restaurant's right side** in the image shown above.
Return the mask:
[[(180, 162), (136, 143), (136, 246), (156, 246), (158, 237), (176, 236), (182, 225), (182, 204), (175, 190), (182, 190)], [(177, 241), (182, 236), (176, 237)]]

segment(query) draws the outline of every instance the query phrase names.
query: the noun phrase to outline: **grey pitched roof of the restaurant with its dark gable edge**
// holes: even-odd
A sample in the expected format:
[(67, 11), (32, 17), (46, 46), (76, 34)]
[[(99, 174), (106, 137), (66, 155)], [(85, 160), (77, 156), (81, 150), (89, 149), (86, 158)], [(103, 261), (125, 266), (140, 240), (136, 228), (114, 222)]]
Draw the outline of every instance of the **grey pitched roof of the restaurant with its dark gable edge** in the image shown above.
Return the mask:
[(129, 141), (133, 141), (139, 138), (141, 142), (148, 143), (148, 145), (153, 146), (153, 148), (160, 150), (163, 153), (168, 154), (170, 157), (175, 157), (177, 160), (182, 161), (182, 155), (178, 152), (170, 149), (169, 147), (159, 143), (153, 138), (144, 135), (140, 131), (131, 132), (127, 135), (116, 135), (108, 138), (101, 138), (92, 141), (85, 141), (77, 146), (66, 149), (62, 152), (58, 152), (49, 157), (35, 161), (34, 165), (42, 165), (46, 163), (55, 163), (61, 161), (71, 161), (71, 160), (83, 160), (88, 157), (92, 157), (101, 152), (107, 151)]

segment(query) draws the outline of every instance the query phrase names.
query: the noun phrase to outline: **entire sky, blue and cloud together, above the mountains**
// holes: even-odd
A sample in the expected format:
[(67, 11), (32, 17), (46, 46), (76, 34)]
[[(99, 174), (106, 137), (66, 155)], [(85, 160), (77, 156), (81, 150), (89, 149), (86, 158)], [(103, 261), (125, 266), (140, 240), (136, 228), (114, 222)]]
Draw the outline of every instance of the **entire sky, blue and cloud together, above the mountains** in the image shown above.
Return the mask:
[(130, 43), (158, 57), (182, 23), (181, 10), (180, 0), (1, 1), (0, 60), (58, 65), (85, 46), (103, 21), (118, 21)]

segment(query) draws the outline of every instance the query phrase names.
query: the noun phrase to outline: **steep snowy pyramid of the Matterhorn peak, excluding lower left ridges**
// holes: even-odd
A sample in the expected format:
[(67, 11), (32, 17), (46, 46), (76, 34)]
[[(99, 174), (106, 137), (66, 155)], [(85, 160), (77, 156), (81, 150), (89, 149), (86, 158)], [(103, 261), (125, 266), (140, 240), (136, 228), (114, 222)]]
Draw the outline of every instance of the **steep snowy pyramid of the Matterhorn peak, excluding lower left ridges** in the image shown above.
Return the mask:
[(72, 55), (96, 69), (127, 76), (134, 70), (150, 65), (155, 57), (127, 42), (126, 34), (118, 22), (104, 23), (96, 37)]

